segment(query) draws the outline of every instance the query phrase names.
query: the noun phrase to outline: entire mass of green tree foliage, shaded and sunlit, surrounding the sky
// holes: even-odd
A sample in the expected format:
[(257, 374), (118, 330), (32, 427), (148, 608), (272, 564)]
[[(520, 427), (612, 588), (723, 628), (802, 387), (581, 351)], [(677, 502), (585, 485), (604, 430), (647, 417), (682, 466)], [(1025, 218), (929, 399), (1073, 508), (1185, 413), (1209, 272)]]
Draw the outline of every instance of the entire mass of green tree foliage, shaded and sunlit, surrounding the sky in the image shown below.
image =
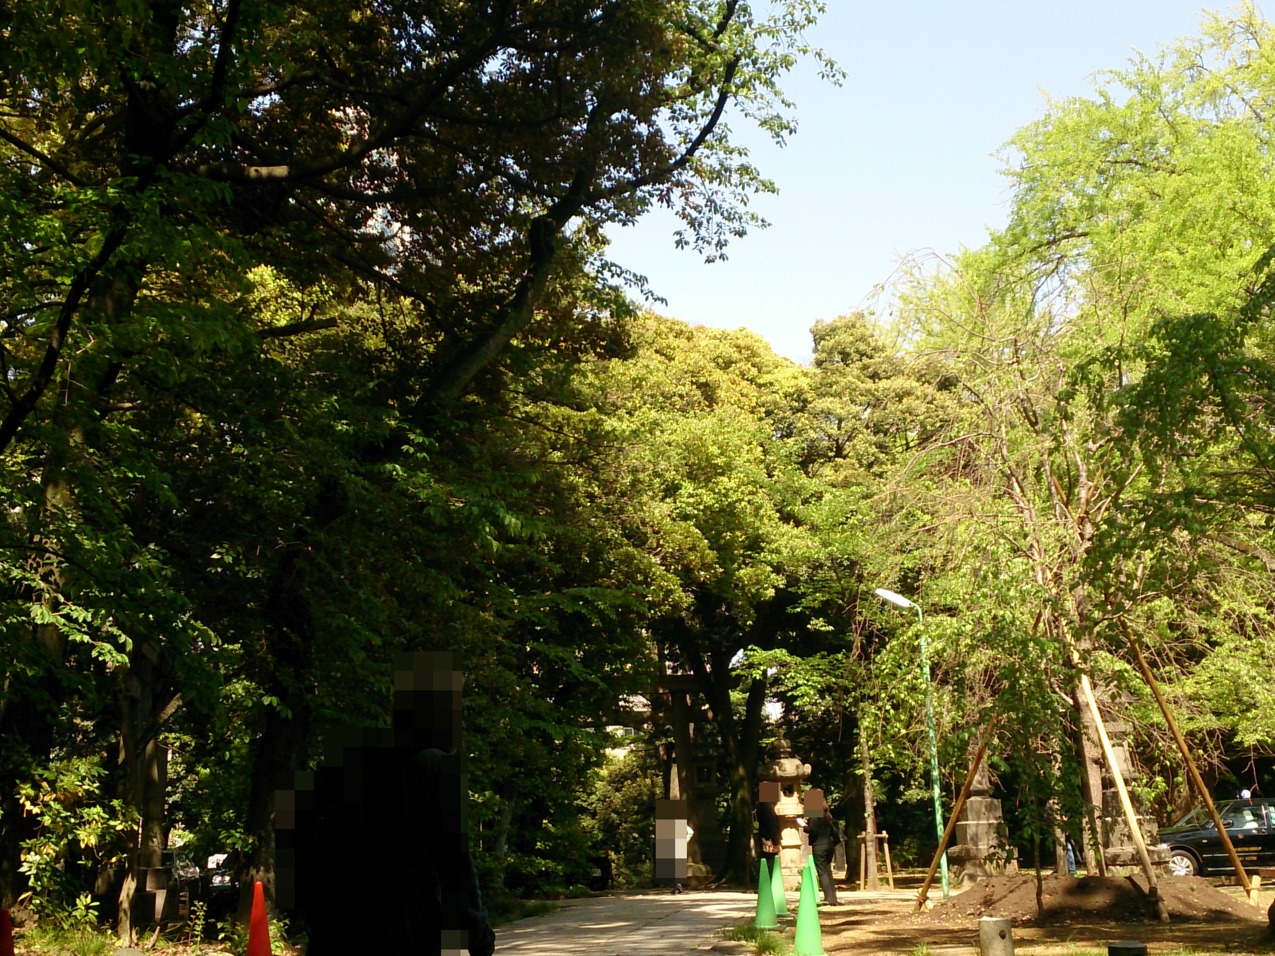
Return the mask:
[(1219, 788), (1275, 786), (1275, 29), (1051, 103), (1009, 226), (799, 366), (634, 302), (603, 227), (756, 224), (722, 120), (792, 131), (817, 13), (0, 4), (0, 904), (178, 844), (270, 885), (277, 775), (400, 649), (463, 655), (497, 902), (649, 881), (688, 751), (746, 881), (780, 730), (922, 862), (922, 636), (943, 790), (998, 715), (1024, 848), (1093, 812), (1082, 673), (1191, 803), (1131, 634)]

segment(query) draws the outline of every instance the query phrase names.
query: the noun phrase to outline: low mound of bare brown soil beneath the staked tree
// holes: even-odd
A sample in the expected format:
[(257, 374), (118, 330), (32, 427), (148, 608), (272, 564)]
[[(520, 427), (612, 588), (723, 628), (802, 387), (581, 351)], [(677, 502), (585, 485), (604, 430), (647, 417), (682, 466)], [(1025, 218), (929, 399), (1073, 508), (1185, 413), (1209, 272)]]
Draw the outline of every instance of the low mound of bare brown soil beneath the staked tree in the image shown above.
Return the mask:
[[(1200, 877), (1163, 877), (1159, 885), (1169, 919), (1174, 922), (1235, 923), (1265, 918), (1257, 906), (1228, 896)], [(1038, 920), (1034, 873), (993, 877), (927, 913), (918, 913), (913, 922), (965, 925), (980, 916), (1007, 916), (1014, 923), (1139, 923), (1156, 918), (1142, 876), (1047, 876), (1043, 899), (1044, 915)]]

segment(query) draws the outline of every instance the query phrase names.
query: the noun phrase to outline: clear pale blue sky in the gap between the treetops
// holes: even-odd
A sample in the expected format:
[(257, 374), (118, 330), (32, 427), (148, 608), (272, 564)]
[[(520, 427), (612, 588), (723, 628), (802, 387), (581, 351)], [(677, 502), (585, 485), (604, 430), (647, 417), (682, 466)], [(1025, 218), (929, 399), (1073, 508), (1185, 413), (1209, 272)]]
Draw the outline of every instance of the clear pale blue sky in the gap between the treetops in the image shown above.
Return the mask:
[(737, 130), (779, 185), (778, 196), (755, 204), (771, 227), (706, 265), (676, 250), (676, 221), (654, 213), (611, 233), (611, 257), (650, 279), (668, 300), (660, 312), (752, 329), (805, 362), (815, 320), (863, 303), (903, 255), (977, 246), (1005, 222), (1006, 181), (991, 154), (1040, 115), (1044, 93), (1085, 94), (1095, 70), (1196, 33), (1202, 9), (1179, 0), (829, 0), (808, 38), (849, 73), (845, 83), (821, 83), (810, 64), (788, 78), (799, 126), (783, 149)]

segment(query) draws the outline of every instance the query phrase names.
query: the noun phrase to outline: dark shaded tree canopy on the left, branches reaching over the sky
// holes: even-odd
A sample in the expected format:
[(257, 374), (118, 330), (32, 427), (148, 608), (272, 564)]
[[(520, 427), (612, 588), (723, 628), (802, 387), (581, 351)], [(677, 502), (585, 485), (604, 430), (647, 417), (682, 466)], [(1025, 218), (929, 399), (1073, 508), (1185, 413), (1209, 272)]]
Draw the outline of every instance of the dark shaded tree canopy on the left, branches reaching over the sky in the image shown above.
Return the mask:
[[(162, 778), (156, 733), (198, 701), (214, 723), (184, 729), (208, 739), (244, 681), (237, 702), (261, 701), (245, 725), (259, 734), (245, 876), (269, 882), (275, 772), (302, 766), (338, 714), (377, 716), (372, 663), (323, 704), (335, 662), (368, 660), (403, 619), (390, 556), (421, 539), (389, 533), (376, 509), (430, 526), (446, 495), (421, 467), (425, 432), (464, 447), (460, 399), (497, 357), (519, 376), (588, 351), (597, 312), (581, 300), (615, 302), (603, 223), (663, 201), (682, 241), (714, 256), (757, 222), (746, 201), (770, 184), (720, 120), (734, 103), (790, 130), (776, 82), (819, 56), (801, 40), (817, 13), (6, 11), (0, 454), (20, 505), (6, 528), (5, 799), (47, 760), (80, 676), (102, 687), (110, 668), (119, 781), (150, 808), (131, 874), (162, 839), (162, 789), (139, 783)], [(295, 345), (329, 330), (315, 354)], [(409, 473), (398, 484), (395, 468)], [(469, 526), (479, 539), (484, 523)], [(3, 836), (11, 900), (29, 834)]]

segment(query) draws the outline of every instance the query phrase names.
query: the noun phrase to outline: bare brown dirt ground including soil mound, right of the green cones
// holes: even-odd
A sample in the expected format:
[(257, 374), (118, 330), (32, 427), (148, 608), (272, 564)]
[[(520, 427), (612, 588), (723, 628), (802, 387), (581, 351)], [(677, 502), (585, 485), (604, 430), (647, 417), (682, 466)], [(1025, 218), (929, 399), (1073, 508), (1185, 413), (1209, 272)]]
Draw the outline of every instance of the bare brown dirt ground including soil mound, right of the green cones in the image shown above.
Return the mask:
[[(1145, 942), (1151, 956), (1275, 952), (1266, 928), (1266, 909), (1275, 901), (1270, 890), (1261, 891), (1261, 905), (1253, 906), (1238, 887), (1219, 888), (1215, 881), (1198, 877), (1165, 878), (1162, 886), (1170, 923), (1164, 925), (1148, 911), (1142, 890), (1127, 881), (1086, 883), (1049, 877), (1046, 920), (1037, 925), (1034, 874), (980, 883), (921, 914), (915, 911), (917, 890), (904, 890), (904, 882), (899, 881), (898, 892), (839, 890), (841, 905), (820, 910), (825, 952), (915, 956), (928, 950), (933, 956), (972, 956), (979, 916), (1002, 913), (1014, 920), (1017, 956), (1105, 956), (1107, 945), (1119, 939)], [(935, 896), (940, 896), (937, 891)], [(792, 929), (784, 934), (790, 938)], [(714, 948), (745, 952), (740, 946)]]

